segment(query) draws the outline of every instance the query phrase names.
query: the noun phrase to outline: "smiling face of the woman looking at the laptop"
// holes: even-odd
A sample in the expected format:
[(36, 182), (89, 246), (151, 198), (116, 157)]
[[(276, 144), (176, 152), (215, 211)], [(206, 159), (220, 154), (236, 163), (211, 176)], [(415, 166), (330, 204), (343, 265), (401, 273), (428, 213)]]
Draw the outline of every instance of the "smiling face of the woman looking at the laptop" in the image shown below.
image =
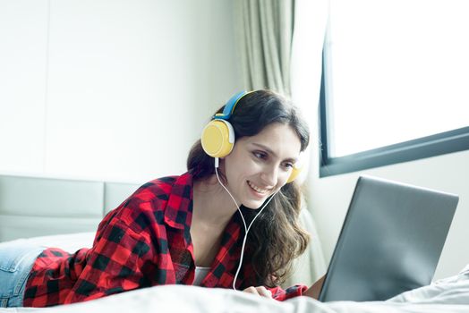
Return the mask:
[(300, 149), (296, 132), (282, 123), (269, 124), (255, 136), (236, 140), (222, 168), (226, 187), (238, 205), (259, 208), (285, 185)]

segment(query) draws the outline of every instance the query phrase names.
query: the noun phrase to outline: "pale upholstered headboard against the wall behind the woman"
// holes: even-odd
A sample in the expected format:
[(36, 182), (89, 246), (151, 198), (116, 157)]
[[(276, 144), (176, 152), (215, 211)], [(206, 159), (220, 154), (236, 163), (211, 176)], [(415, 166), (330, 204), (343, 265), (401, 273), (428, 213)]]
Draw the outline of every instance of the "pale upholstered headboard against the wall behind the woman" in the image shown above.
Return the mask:
[(96, 231), (138, 184), (0, 175), (0, 241)]

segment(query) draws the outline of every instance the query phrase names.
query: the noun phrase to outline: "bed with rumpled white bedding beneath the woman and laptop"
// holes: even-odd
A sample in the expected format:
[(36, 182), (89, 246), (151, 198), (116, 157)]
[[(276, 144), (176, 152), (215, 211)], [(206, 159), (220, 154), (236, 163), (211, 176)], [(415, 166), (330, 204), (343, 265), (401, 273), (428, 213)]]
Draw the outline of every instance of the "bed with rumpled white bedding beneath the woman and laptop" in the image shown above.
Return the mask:
[[(74, 251), (90, 246), (94, 233), (42, 236), (16, 241), (55, 246)], [(0, 243), (1, 244), (1, 243)], [(441, 279), (387, 301), (321, 303), (308, 297), (284, 302), (245, 292), (198, 286), (166, 285), (124, 292), (87, 302), (52, 308), (10, 308), (2, 312), (469, 312), (469, 265), (458, 274)]]

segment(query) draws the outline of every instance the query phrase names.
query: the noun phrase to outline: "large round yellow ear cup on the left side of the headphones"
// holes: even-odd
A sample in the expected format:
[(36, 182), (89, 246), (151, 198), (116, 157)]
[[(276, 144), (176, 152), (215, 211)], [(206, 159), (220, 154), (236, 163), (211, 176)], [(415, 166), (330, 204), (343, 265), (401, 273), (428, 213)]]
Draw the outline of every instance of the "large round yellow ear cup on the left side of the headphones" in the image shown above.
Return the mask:
[(210, 157), (226, 157), (235, 145), (235, 131), (229, 122), (213, 120), (203, 129), (200, 141)]

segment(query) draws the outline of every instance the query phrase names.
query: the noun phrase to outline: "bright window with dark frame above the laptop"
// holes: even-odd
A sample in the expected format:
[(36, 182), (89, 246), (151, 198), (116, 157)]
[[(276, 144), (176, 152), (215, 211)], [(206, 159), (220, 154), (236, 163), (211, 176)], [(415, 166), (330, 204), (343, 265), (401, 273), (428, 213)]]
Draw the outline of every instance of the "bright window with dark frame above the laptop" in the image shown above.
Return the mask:
[(465, 0), (330, 0), (320, 176), (469, 148)]

